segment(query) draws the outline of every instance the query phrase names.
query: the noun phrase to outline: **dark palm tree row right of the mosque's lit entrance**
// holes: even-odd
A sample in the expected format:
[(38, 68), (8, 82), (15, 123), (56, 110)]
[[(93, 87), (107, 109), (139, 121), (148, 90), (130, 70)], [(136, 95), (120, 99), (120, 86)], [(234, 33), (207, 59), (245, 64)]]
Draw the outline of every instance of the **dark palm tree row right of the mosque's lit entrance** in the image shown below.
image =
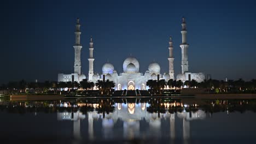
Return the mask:
[(195, 80), (191, 81), (181, 81), (170, 79), (168, 81), (162, 80), (148, 80), (146, 85), (149, 87), (150, 91), (154, 93), (160, 93), (160, 89), (168, 88), (170, 89), (182, 89), (182, 88), (204, 88), (207, 92), (230, 92), (230, 93), (254, 93), (256, 91), (256, 80), (244, 81), (242, 79), (238, 80), (204, 80), (202, 82), (197, 82)]

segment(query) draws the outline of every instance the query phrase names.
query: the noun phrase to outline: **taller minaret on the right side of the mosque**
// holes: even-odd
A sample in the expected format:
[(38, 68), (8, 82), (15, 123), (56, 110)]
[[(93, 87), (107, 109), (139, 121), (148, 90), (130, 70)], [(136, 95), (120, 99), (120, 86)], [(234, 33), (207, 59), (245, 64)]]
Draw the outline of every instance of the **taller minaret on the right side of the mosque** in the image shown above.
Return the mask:
[(187, 44), (187, 27), (185, 18), (182, 18), (182, 44), (180, 45), (182, 48), (182, 74), (188, 72), (188, 47)]

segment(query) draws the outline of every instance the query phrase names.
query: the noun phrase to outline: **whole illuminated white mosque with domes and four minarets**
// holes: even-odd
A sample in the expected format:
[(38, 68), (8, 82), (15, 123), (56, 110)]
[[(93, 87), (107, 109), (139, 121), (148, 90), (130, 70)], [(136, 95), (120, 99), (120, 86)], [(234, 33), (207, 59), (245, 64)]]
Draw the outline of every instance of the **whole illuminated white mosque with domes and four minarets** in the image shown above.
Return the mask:
[[(189, 65), (188, 65), (188, 47), (189, 44), (187, 43), (187, 23), (183, 17), (182, 19), (182, 44), (180, 45), (182, 49), (182, 74), (177, 75), (176, 80), (196, 80), (197, 82), (201, 82), (205, 80), (205, 75), (203, 73), (190, 73), (189, 72)], [(165, 79), (166, 81), (174, 78), (174, 70), (173, 70), (173, 45), (172, 45), (172, 38), (170, 37), (169, 41), (169, 57), (167, 58), (169, 61), (169, 71), (168, 73), (161, 74), (160, 65), (156, 62), (152, 62), (148, 65), (148, 70), (143, 74), (139, 72), (139, 62), (135, 57), (128, 57), (125, 59), (123, 63), (123, 73), (118, 74), (117, 70), (114, 69), (114, 65), (111, 63), (105, 63), (102, 66), (102, 74), (94, 73), (94, 46), (92, 38), (90, 39), (89, 44), (89, 74), (86, 77), (84, 74), (81, 73), (81, 58), (80, 52), (82, 49), (82, 45), (80, 44), (80, 22), (77, 19), (77, 23), (75, 25), (75, 57), (74, 57), (74, 73), (72, 74), (58, 74), (58, 82), (60, 81), (82, 81), (83, 79), (88, 79), (89, 81), (96, 82), (97, 80), (102, 80), (103, 75), (105, 75), (105, 79), (109, 79), (115, 82), (115, 90), (124, 90), (124, 89), (140, 89), (146, 90), (148, 87), (146, 86), (146, 82), (148, 80), (157, 80), (158, 76), (159, 79)]]

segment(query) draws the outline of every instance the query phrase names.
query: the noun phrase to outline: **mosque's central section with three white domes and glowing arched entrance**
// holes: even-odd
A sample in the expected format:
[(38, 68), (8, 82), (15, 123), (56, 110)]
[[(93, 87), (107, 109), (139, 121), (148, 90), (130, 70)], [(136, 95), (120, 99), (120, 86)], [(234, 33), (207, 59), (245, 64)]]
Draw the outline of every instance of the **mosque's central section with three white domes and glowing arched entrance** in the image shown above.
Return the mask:
[[(103, 75), (106, 76), (106, 79), (112, 80), (115, 82), (115, 89), (147, 89), (146, 82), (150, 79), (158, 79), (160, 74), (160, 65), (156, 62), (152, 62), (148, 66), (148, 70), (145, 74), (139, 72), (139, 62), (135, 57), (128, 57), (123, 63), (123, 73), (119, 74), (114, 69), (114, 66), (111, 63), (105, 63), (102, 67), (102, 75), (100, 79), (103, 78)], [(97, 78), (96, 78), (97, 77)], [(94, 76), (95, 79), (92, 81), (98, 80), (98, 75)], [(89, 79), (90, 80), (90, 79)]]

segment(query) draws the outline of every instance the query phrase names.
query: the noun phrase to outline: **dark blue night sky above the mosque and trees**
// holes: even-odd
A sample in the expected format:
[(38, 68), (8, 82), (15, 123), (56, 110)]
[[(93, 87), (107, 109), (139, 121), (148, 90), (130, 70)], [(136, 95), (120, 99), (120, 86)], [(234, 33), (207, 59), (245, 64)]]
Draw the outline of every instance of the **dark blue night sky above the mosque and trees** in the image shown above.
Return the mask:
[(154, 59), (168, 71), (173, 37), (174, 73), (181, 73), (181, 19), (188, 27), (189, 70), (214, 79), (255, 79), (254, 1), (5, 1), (1, 3), (0, 82), (57, 80), (72, 73), (75, 19), (82, 24), (82, 71), (88, 74), (89, 38), (95, 71), (113, 63), (123, 71), (136, 57), (144, 73)]

